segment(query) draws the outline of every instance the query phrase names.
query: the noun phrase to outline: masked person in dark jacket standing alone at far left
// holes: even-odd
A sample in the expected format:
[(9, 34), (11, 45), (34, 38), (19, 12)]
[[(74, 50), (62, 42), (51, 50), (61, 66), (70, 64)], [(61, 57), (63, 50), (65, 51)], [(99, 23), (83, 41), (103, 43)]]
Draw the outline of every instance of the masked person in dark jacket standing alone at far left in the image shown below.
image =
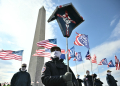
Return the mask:
[(26, 72), (26, 64), (22, 64), (22, 68), (19, 72), (15, 73), (11, 79), (11, 86), (30, 86), (31, 78), (30, 74)]

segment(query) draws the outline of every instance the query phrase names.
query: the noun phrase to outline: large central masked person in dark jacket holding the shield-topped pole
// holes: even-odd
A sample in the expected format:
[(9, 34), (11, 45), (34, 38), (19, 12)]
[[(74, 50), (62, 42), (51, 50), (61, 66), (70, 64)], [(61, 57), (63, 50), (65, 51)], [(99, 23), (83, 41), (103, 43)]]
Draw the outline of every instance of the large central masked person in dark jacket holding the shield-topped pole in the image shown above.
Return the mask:
[(44, 64), (42, 69), (41, 81), (45, 86), (78, 86), (75, 75), (63, 59), (60, 58), (61, 49), (57, 46), (51, 48), (51, 59)]

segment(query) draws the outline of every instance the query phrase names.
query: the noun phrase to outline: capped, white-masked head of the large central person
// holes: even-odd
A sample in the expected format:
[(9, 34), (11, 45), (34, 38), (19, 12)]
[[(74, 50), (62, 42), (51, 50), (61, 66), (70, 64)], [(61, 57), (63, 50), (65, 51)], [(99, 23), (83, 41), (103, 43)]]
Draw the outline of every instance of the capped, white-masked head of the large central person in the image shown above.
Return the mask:
[(52, 58), (59, 58), (61, 56), (61, 49), (57, 46), (54, 46), (50, 49)]

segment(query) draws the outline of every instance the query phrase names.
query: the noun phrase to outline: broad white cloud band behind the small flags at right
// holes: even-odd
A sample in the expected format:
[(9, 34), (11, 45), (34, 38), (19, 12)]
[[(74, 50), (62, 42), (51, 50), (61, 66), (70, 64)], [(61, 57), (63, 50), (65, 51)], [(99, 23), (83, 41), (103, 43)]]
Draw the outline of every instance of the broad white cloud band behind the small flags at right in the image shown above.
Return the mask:
[(91, 50), (91, 55), (96, 54), (97, 61), (99, 62), (103, 58), (109, 58), (115, 55), (115, 52), (120, 49), (120, 40), (105, 42), (99, 46), (96, 46)]

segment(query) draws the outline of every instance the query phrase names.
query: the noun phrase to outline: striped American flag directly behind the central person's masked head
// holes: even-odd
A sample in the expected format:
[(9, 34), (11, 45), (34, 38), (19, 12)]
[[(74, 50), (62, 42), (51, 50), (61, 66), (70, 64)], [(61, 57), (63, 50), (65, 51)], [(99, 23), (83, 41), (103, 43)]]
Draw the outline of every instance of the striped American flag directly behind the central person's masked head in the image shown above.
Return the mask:
[[(65, 54), (64, 49), (61, 49), (61, 54)], [(36, 50), (36, 53), (33, 56), (50, 58), (51, 57), (51, 52), (50, 52), (50, 49), (39, 49), (39, 50)]]

